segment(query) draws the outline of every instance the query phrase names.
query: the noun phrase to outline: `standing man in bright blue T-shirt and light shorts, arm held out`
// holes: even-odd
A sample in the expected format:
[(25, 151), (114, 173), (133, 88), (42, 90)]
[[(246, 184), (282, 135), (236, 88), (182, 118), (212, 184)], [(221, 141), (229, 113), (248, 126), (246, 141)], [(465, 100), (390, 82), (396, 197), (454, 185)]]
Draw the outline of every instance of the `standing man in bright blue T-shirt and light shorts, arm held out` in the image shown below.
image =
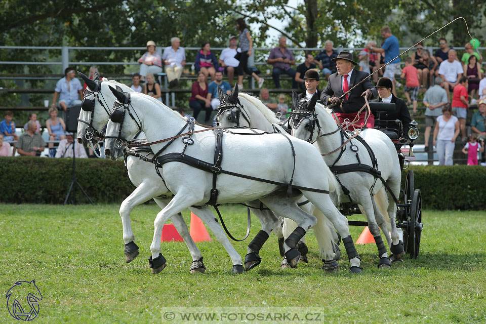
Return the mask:
[(385, 72), (383, 73), (383, 76), (388, 77), (390, 80), (392, 80), (392, 93), (396, 96), (395, 71), (400, 65), (400, 57), (397, 57), (400, 54), (400, 45), (398, 44), (398, 38), (391, 34), (390, 27), (384, 26), (383, 28), (381, 28), (381, 35), (383, 36), (383, 38), (385, 38), (385, 43), (383, 43), (381, 49), (376, 48), (371, 44), (368, 44), (368, 48), (374, 52), (384, 53), (385, 64), (389, 64), (385, 67)]

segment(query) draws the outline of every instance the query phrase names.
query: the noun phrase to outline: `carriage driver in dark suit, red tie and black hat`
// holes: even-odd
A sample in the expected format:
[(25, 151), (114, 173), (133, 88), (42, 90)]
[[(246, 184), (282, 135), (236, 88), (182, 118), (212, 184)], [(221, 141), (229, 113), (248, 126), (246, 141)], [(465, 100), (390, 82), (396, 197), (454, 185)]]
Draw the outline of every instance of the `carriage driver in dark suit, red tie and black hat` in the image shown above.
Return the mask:
[[(336, 104), (333, 107), (333, 110), (340, 123), (343, 123), (346, 118), (352, 121), (356, 117), (356, 113), (359, 109), (365, 105), (364, 97), (366, 96), (368, 99), (372, 99), (375, 98), (378, 93), (376, 88), (371, 84), (369, 79), (370, 74), (353, 68), (357, 63), (353, 61), (352, 53), (342, 51), (337, 57), (333, 58), (332, 61), (336, 62), (338, 71), (329, 76), (328, 85), (322, 91), (320, 100), (324, 105)], [(353, 88), (363, 79), (366, 80), (343, 96), (345, 92)], [(359, 114), (359, 120), (356, 126), (362, 126), (365, 123), (365, 112), (366, 110), (363, 110)], [(367, 127), (374, 128), (374, 126), (375, 117), (372, 113), (368, 118)]]

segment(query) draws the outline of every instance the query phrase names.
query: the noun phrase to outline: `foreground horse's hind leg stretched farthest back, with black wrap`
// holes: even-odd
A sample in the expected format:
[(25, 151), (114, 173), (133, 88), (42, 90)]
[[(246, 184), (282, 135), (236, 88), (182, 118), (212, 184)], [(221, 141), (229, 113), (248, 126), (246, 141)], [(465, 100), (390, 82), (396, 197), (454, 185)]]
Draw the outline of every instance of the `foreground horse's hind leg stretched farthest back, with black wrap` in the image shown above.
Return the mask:
[(333, 223), (339, 235), (341, 235), (344, 248), (348, 254), (349, 263), (351, 264), (349, 270), (353, 273), (362, 273), (363, 269), (359, 266), (361, 259), (356, 252), (353, 239), (349, 233), (348, 220), (338, 211), (336, 206), (334, 206), (329, 194), (304, 190), (302, 190), (302, 193), (312, 202), (312, 204), (314, 204), (318, 210), (322, 212), (322, 214), (324, 214), (331, 221), (331, 223)]

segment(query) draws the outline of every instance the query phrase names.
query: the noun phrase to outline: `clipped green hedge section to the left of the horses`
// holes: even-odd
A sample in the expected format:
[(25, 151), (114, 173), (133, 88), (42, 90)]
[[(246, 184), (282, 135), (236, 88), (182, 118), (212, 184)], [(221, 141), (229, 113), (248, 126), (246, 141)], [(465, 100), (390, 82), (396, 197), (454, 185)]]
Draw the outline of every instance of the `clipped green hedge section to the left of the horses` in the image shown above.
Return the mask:
[[(0, 157), (2, 203), (62, 204), (71, 180), (71, 158)], [(76, 159), (76, 180), (94, 203), (121, 203), (135, 189), (123, 161)], [(77, 186), (76, 199), (88, 201)]]

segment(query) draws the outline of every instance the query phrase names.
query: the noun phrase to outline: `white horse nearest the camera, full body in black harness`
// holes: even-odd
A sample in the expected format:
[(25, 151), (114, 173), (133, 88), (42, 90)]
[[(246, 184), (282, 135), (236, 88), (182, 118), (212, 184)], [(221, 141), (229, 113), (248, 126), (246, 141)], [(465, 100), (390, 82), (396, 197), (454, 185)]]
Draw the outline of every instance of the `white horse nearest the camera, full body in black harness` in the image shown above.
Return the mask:
[[(317, 222), (314, 216), (297, 206), (302, 194), (333, 222), (343, 237), (350, 271), (362, 272), (347, 219), (329, 197), (329, 192), (336, 189), (332, 174), (311, 144), (284, 134), (234, 135), (221, 129), (208, 131), (190, 125), (177, 112), (155, 103), (150, 97), (111, 90), (118, 102), (115, 102), (108, 121), (105, 154), (112, 159), (118, 158), (123, 154), (121, 147), (125, 139), (143, 131), (152, 150), (157, 152), (157, 163), (165, 164), (163, 177), (175, 194), (154, 221), (149, 258), (152, 272), (157, 273), (165, 267), (166, 260), (160, 253), (160, 234), (171, 215), (210, 201), (211, 204), (224, 204), (256, 199), (278, 215), (298, 223), (284, 242), (287, 260), (295, 267), (300, 257), (295, 246)], [(237, 88), (231, 96), (238, 96)], [(183, 133), (185, 130), (189, 133)], [(180, 136), (168, 145), (166, 141), (178, 136), (176, 134)], [(280, 168), (274, 168), (276, 165)], [(262, 230), (250, 243), (245, 261), (258, 257), (260, 248), (276, 225), (274, 216), (266, 223), (262, 222)], [(322, 239), (328, 238), (317, 235), (318, 242)]]

